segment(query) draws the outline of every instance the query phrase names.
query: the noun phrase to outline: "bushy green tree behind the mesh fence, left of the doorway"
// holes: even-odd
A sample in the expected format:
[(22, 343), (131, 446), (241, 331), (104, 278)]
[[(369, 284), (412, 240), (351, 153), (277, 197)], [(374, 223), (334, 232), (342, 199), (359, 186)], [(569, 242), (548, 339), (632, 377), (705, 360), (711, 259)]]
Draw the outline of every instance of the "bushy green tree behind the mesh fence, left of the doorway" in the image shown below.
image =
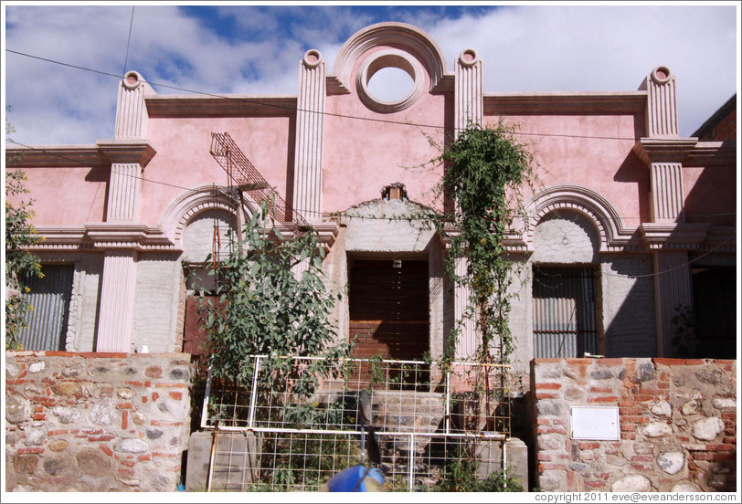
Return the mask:
[[(266, 206), (252, 215), (243, 240), (225, 261), (212, 263), (218, 287), (202, 296), (199, 313), (210, 339), (214, 376), (251, 388), (254, 355), (260, 362), (259, 390), (269, 401), (283, 391), (310, 397), (328, 362), (345, 357), (331, 313), (339, 294), (323, 281), (323, 248), (313, 231), (292, 238), (263, 226)], [(292, 268), (302, 265), (302, 273)], [(213, 295), (216, 294), (218, 299)], [(322, 361), (292, 359), (322, 357)], [(297, 379), (301, 374), (302, 379)], [(297, 415), (301, 408), (292, 410)], [(306, 410), (303, 410), (306, 413)], [(301, 421), (301, 418), (297, 418)]]

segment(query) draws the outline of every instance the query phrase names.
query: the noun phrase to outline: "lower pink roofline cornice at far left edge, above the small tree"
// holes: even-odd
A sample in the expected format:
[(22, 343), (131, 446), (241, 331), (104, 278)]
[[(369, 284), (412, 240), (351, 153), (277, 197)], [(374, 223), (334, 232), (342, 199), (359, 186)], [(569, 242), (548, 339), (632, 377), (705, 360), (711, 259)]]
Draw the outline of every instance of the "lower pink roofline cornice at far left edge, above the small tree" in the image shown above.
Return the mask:
[(5, 149), (7, 168), (90, 167), (108, 163), (98, 145), (34, 145)]

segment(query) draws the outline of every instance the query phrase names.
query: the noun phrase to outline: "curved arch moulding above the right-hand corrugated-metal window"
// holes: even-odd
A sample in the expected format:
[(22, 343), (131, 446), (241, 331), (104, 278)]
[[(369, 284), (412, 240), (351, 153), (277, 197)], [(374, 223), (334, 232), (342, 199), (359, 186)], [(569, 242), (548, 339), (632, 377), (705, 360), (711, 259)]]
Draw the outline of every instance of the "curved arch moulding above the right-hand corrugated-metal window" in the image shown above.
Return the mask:
[(548, 214), (559, 211), (577, 212), (588, 218), (599, 234), (599, 252), (626, 245), (631, 232), (615, 205), (601, 194), (582, 185), (554, 185), (531, 199), (527, 208), (524, 234), (526, 247), (533, 251), (535, 226)]

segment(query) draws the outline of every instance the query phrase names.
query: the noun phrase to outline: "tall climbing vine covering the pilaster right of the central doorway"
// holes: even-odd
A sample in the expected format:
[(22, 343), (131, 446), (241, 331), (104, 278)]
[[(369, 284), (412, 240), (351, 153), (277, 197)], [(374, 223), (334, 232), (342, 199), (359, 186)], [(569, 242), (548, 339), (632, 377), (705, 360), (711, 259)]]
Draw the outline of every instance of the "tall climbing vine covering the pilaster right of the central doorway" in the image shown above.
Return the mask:
[[(469, 308), (457, 320), (449, 347), (461, 334), (461, 324), (475, 320), (478, 361), (495, 362), (499, 352), (499, 360), (508, 362), (514, 350), (508, 325), (514, 261), (506, 243), (522, 210), (522, 191), (536, 182), (534, 157), (514, 139), (514, 130), (499, 122), (493, 127), (470, 125), (439, 161), (445, 163), (440, 189), (451, 202), (451, 211), (436, 221), (441, 235), (451, 241), (447, 273), (470, 292)], [(465, 268), (457, 268), (460, 260)]]

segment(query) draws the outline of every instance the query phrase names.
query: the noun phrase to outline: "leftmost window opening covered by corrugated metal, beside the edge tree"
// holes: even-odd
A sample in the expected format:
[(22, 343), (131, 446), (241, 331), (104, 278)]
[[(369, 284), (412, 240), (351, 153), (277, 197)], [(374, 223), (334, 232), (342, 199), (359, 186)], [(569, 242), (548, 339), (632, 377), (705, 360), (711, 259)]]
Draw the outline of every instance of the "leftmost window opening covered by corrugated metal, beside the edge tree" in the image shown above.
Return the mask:
[(28, 278), (31, 291), (25, 296), (33, 310), (26, 311), (28, 327), (20, 331), (20, 341), (25, 350), (64, 350), (75, 268), (48, 265), (41, 270), (44, 278)]

